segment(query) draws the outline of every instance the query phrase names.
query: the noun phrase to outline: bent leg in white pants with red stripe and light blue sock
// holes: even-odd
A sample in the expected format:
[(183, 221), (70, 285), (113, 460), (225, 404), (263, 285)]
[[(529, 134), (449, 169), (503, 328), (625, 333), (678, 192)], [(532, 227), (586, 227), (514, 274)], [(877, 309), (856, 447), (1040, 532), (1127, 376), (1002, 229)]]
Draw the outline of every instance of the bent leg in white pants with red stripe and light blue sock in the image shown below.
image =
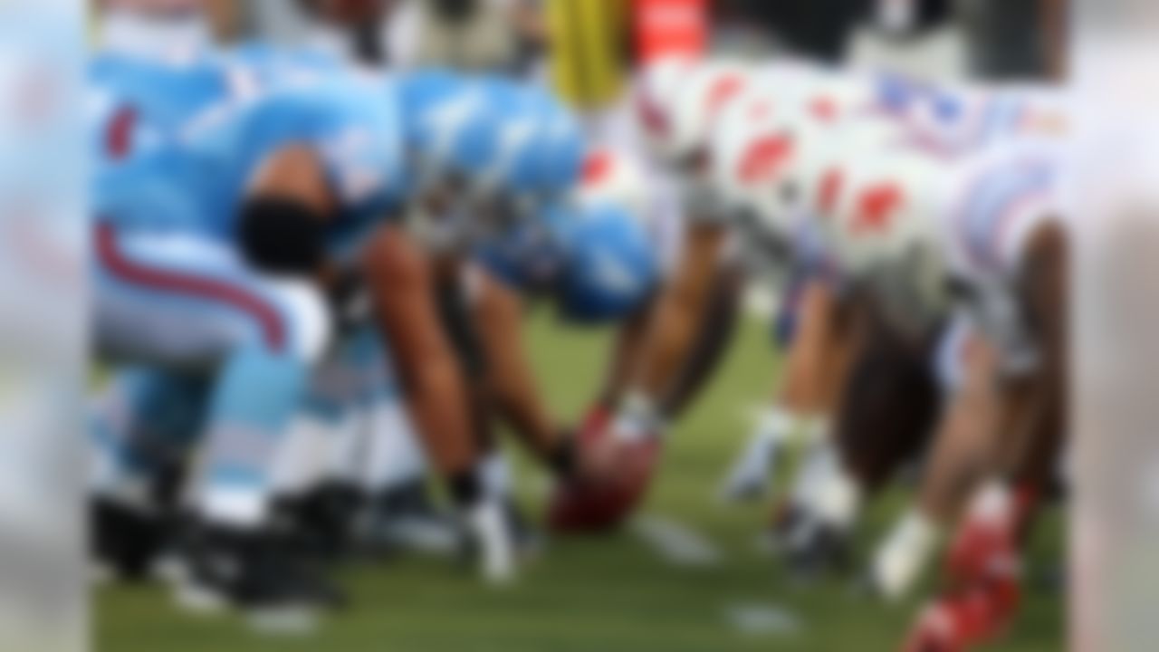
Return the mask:
[[(269, 530), (276, 451), (329, 336), (322, 298), (308, 284), (257, 277), (232, 252), (196, 238), (103, 230), (96, 259), (101, 350), (213, 374), (199, 463), (187, 487), (195, 517), (184, 595), (255, 608), (329, 601), (330, 589), (291, 571), (293, 562), (265, 553), (276, 548)], [(228, 577), (199, 563), (219, 553), (247, 563)]]

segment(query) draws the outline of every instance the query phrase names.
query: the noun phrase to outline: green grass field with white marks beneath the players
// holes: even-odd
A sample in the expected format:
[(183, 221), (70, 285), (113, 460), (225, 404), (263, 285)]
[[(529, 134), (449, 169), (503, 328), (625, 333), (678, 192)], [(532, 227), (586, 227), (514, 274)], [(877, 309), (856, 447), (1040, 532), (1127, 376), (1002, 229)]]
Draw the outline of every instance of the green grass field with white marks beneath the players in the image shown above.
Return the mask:
[[(606, 335), (563, 332), (533, 320), (531, 346), (553, 405), (566, 415), (585, 407), (606, 350)], [(305, 639), (269, 639), (240, 622), (194, 620), (158, 587), (102, 589), (95, 640), (101, 652), (876, 652), (899, 647), (914, 604), (885, 607), (832, 580), (801, 586), (761, 552), (756, 535), (764, 506), (722, 507), (715, 490), (744, 440), (748, 412), (767, 394), (777, 360), (757, 323), (746, 324), (723, 374), (676, 432), (663, 473), (644, 509), (695, 530), (721, 552), (719, 563), (675, 564), (632, 530), (608, 538), (551, 542), (512, 588), (493, 591), (438, 560), (396, 559), (343, 573), (355, 607)], [(529, 509), (544, 483), (524, 474)], [(899, 497), (874, 507), (861, 533), (880, 533)], [(1001, 645), (1008, 652), (1063, 649), (1063, 599), (1048, 588), (1060, 559), (1062, 527), (1048, 519), (1035, 543), (1028, 600)], [(782, 622), (744, 629), (737, 610)], [(774, 620), (777, 620), (774, 618)]]

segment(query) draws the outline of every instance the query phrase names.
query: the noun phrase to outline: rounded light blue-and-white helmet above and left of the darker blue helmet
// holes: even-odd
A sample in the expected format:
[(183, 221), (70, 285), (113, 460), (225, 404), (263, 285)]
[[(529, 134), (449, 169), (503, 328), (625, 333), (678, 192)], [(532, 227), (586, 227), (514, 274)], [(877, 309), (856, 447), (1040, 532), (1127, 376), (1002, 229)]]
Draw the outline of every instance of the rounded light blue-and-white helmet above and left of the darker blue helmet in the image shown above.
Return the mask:
[[(415, 204), (442, 212), (431, 219), (436, 246), (518, 237), (509, 231), (538, 219), (578, 182), (580, 130), (564, 129), (575, 121), (541, 90), (445, 71), (410, 73), (400, 88)], [(435, 208), (425, 201), (432, 195), (440, 197)]]

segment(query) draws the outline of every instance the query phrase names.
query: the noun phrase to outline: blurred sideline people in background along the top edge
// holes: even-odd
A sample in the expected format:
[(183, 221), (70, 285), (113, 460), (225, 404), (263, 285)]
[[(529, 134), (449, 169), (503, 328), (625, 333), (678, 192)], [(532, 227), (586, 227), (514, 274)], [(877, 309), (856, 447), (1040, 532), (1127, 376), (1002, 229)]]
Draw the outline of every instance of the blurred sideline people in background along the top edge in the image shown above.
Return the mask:
[[(370, 60), (542, 75), (577, 106), (598, 108), (633, 66), (664, 46), (649, 21), (691, 20), (717, 52), (792, 52), (830, 63), (883, 61), (942, 79), (1057, 77), (1064, 43), (1038, 26), (1062, 21), (1055, 0), (402, 0), (359, 36)], [(213, 2), (224, 36), (291, 41), (315, 31), (300, 2)], [(359, 7), (363, 5), (363, 7)], [(374, 2), (351, 2), (373, 12)], [(366, 14), (371, 15), (371, 14)], [(675, 17), (673, 17), (675, 16)], [(663, 29), (663, 28), (662, 28)]]

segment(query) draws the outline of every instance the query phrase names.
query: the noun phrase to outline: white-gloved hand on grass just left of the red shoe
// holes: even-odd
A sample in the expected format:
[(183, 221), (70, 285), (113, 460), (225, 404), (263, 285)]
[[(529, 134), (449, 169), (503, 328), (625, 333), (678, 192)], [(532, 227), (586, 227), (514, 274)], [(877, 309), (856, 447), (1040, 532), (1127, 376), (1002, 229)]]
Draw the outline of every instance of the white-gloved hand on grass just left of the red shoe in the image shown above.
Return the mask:
[(888, 600), (912, 591), (942, 539), (942, 528), (920, 509), (910, 509), (877, 548), (873, 560), (876, 588)]

